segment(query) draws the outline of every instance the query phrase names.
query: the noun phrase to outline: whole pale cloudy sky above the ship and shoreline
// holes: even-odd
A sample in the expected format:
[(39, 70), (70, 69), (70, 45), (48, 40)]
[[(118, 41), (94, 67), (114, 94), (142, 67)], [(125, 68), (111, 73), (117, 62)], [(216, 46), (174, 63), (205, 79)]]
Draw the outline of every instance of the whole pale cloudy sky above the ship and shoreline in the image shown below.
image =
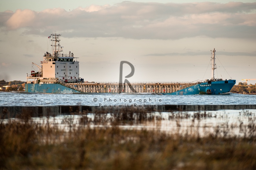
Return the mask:
[(215, 78), (256, 79), (256, 0), (1, 0), (0, 80), (26, 81), (52, 33), (89, 82), (118, 82), (121, 61), (130, 82), (210, 79), (214, 48)]

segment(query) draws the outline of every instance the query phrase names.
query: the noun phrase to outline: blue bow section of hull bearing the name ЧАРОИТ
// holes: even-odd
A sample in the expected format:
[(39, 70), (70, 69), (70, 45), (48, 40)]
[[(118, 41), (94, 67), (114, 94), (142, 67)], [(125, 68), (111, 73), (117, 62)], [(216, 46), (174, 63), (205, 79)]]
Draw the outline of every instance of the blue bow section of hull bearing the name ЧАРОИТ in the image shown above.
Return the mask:
[(173, 93), (162, 93), (164, 95), (192, 95), (192, 94), (208, 94), (216, 95), (228, 93), (236, 84), (236, 80), (210, 81), (187, 87)]

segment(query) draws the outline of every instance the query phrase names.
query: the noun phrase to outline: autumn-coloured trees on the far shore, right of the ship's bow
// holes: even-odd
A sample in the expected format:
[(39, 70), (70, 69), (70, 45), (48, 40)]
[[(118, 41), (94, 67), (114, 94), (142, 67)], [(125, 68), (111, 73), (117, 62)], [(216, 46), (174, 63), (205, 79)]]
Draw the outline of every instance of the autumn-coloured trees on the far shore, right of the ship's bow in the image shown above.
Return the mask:
[(243, 93), (244, 91), (246, 93), (256, 93), (256, 83), (254, 85), (248, 85), (246, 82), (239, 82), (238, 85), (234, 85), (233, 88), (230, 90), (230, 92), (235, 93)]

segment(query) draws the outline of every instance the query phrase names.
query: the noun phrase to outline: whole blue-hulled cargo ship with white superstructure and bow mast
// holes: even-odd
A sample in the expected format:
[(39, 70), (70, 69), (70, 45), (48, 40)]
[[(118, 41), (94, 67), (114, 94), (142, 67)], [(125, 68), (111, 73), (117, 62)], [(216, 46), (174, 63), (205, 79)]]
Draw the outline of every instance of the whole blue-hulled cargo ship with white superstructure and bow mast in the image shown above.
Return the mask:
[(60, 34), (51, 34), (51, 53), (46, 52), (38, 71), (27, 74), (25, 91), (32, 93), (155, 93), (163, 95), (216, 95), (229, 93), (236, 80), (214, 77), (215, 49), (211, 51), (211, 79), (193, 82), (88, 82), (80, 78), (79, 61), (74, 54), (63, 53)]

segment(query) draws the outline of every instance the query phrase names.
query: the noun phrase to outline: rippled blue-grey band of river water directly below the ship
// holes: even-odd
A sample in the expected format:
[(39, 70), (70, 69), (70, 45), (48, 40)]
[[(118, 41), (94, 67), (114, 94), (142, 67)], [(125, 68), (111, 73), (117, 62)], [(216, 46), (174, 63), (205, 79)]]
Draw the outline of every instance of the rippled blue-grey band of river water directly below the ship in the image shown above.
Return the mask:
[(222, 95), (156, 95), (152, 93), (71, 93), (43, 94), (0, 92), (0, 106), (56, 106), (56, 105), (204, 105), (256, 104), (256, 95), (228, 93)]

